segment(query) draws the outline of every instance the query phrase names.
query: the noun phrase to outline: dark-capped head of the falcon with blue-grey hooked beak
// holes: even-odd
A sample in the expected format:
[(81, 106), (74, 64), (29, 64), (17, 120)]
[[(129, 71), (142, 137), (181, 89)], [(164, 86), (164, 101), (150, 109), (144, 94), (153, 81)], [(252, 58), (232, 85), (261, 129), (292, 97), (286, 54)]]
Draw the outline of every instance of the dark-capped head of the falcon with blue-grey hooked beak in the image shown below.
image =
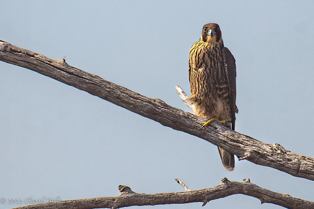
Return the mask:
[(201, 41), (207, 43), (219, 43), (221, 39), (221, 30), (216, 23), (208, 23), (203, 26)]

